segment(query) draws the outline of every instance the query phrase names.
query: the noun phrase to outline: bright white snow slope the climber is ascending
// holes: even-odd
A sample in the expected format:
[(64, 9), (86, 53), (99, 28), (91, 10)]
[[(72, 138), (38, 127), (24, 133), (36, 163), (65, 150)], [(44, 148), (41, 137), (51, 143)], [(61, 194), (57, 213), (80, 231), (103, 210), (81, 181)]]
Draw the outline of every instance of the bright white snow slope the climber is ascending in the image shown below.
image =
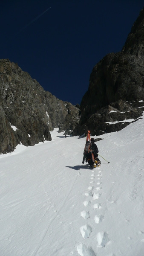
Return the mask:
[(0, 155), (0, 256), (144, 256), (144, 119), (100, 136), (94, 170), (51, 135)]

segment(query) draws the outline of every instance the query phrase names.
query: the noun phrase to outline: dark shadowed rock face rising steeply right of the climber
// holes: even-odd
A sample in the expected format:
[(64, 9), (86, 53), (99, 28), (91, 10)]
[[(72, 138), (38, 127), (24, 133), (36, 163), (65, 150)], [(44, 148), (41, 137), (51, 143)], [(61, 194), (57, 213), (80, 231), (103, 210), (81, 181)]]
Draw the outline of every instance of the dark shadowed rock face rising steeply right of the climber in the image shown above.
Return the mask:
[[(92, 70), (81, 101), (81, 120), (72, 135), (119, 131), (144, 108), (144, 9), (121, 52), (106, 55)], [(108, 123), (109, 122), (109, 123)], [(112, 124), (110, 122), (113, 122)]]

